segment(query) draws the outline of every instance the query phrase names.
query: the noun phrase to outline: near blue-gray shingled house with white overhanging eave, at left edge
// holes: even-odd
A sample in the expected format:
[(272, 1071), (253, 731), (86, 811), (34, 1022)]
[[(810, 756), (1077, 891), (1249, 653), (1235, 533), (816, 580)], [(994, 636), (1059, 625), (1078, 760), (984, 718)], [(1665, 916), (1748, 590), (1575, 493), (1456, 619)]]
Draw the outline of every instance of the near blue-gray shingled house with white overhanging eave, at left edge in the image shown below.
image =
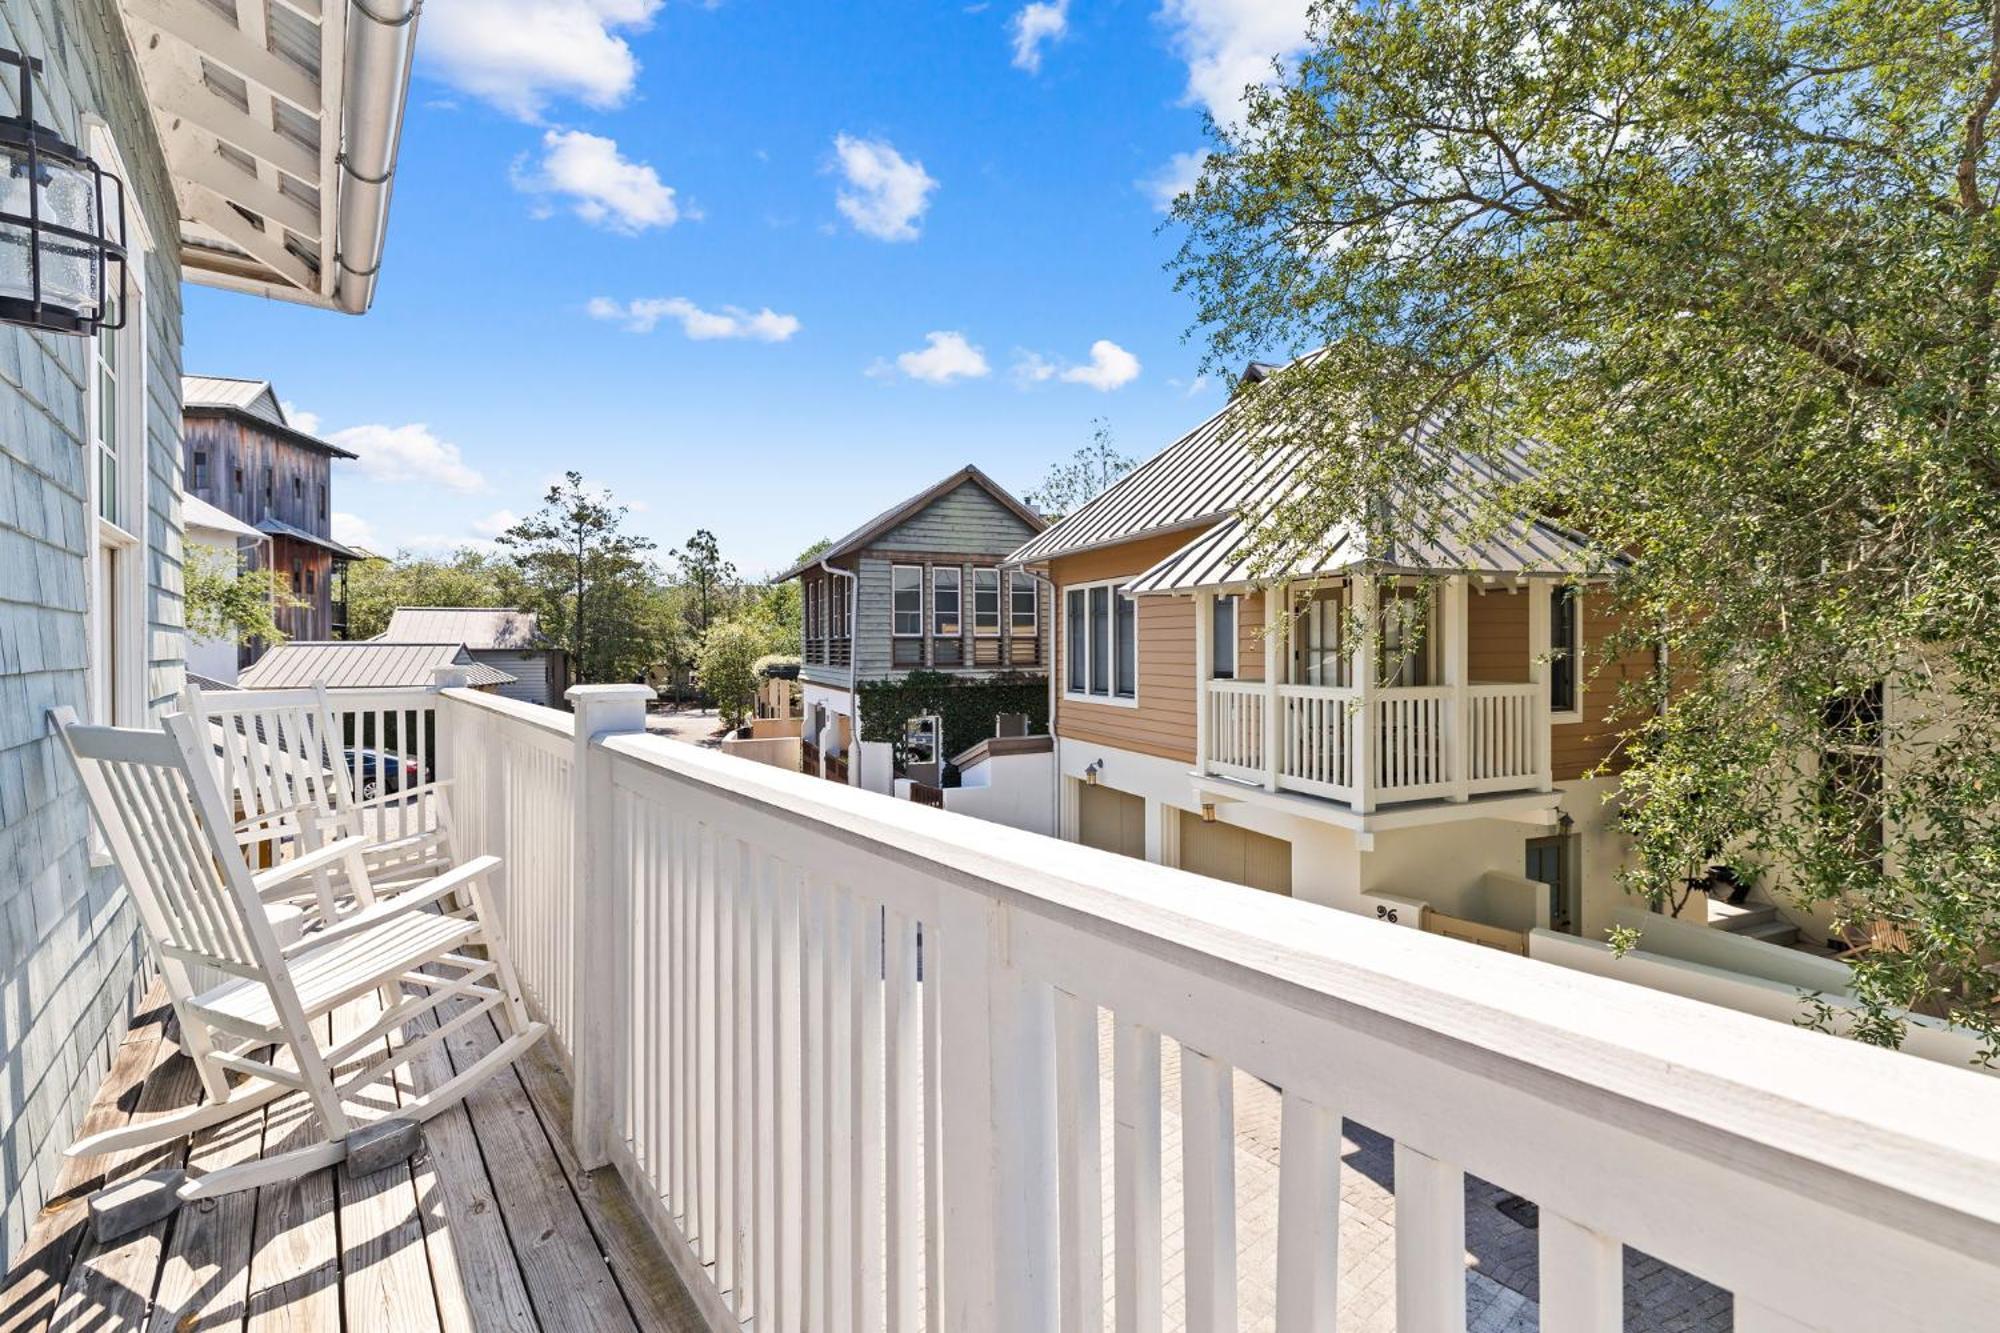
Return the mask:
[[(232, 8), (0, 0), (0, 48), (38, 62), (34, 122), (122, 182), (104, 208), (122, 194), (126, 236), (124, 272), (112, 264), (102, 288), (122, 326), (0, 322), (0, 1249), (10, 1255), (48, 1203), (60, 1151), (150, 981), (138, 913), (46, 719), (70, 707), (146, 727), (186, 681), (180, 284), (360, 312), (380, 260), (414, 28), (378, 34), (374, 20), (328, 6), (324, 22), (282, 24), (278, 42), (264, 6), (244, 6), (256, 12), (242, 20), (224, 16)], [(392, 18), (408, 6), (378, 8)], [(344, 70), (324, 88), (322, 54)], [(186, 70), (212, 74), (190, 82)], [(20, 110), (8, 66), (0, 116)], [(266, 154), (284, 158), (292, 188), (280, 192)], [(8, 238), (18, 254), (18, 230)]]

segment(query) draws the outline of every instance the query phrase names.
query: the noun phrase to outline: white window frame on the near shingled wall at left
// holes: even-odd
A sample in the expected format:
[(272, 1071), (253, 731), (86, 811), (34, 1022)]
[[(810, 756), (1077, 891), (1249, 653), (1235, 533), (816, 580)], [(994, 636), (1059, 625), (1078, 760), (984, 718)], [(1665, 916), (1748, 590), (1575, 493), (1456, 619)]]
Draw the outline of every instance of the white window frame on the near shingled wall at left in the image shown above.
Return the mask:
[[(122, 180), (130, 180), (124, 154), (96, 116), (86, 118), (90, 154)], [(96, 336), (84, 342), (84, 450), (88, 472), (88, 522), (92, 528), (90, 566), (84, 576), (90, 644), (84, 654), (84, 695), (94, 723), (142, 727), (150, 711), (146, 669), (150, 634), (146, 632), (146, 526), (150, 472), (146, 438), (146, 258), (152, 254), (152, 234), (138, 208), (126, 204), (126, 240), (130, 262), (124, 288), (124, 328), (110, 330), (118, 346), (118, 402), (112, 420), (118, 430), (114, 450), (118, 462), (118, 518), (102, 516), (102, 468), (98, 464), (98, 422), (104, 420), (102, 380), (98, 376)], [(104, 336), (104, 334), (98, 334)], [(104, 556), (112, 556), (112, 582), (106, 584)], [(100, 660), (98, 644), (114, 644), (112, 660)]]

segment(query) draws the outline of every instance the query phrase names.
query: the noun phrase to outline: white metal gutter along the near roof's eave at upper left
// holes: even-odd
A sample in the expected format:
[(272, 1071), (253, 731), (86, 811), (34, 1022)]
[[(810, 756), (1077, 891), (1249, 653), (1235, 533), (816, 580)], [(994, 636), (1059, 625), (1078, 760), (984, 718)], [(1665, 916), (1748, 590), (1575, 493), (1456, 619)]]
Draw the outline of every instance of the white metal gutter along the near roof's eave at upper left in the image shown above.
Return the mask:
[(410, 102), (416, 16), (422, 8), (424, 0), (348, 0), (340, 202), (334, 214), (334, 306), (346, 314), (368, 308), (382, 272), (388, 198), (396, 182), (396, 146)]

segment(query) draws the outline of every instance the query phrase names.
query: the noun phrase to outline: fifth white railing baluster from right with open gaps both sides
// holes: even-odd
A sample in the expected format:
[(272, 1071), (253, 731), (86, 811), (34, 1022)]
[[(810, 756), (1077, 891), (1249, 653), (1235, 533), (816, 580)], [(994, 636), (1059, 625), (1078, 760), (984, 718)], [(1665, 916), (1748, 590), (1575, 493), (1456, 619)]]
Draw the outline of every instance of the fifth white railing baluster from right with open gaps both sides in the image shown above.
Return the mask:
[(1118, 1333), (1160, 1333), (1160, 1033), (1124, 1019), (1116, 1033)]

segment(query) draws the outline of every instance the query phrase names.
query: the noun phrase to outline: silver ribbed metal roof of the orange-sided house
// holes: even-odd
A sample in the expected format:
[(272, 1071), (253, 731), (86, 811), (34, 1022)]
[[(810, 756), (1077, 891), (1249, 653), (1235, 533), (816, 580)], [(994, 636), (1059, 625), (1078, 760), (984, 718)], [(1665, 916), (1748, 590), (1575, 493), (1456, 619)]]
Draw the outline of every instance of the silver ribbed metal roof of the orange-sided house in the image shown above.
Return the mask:
[[(1244, 378), (1256, 382), (1276, 372), (1274, 366), (1252, 364)], [(1598, 552), (1582, 536), (1552, 522), (1524, 516), (1516, 530), (1504, 532), (1486, 532), (1476, 522), (1480, 490), (1528, 474), (1526, 444), (1498, 464), (1452, 450), (1444, 458), (1446, 492), (1438, 532), (1430, 540), (1400, 538), (1370, 546), (1356, 526), (1340, 524), (1272, 558), (1258, 546), (1256, 516), (1308, 484), (1306, 462), (1308, 446), (1286, 444), (1270, 422), (1248, 420), (1242, 402), (1232, 400), (1080, 510), (1024, 542), (1006, 562), (1034, 564), (1186, 530), (1190, 540), (1138, 574), (1128, 590), (1250, 586), (1274, 572), (1310, 578), (1360, 564), (1396, 572), (1602, 570)]]

